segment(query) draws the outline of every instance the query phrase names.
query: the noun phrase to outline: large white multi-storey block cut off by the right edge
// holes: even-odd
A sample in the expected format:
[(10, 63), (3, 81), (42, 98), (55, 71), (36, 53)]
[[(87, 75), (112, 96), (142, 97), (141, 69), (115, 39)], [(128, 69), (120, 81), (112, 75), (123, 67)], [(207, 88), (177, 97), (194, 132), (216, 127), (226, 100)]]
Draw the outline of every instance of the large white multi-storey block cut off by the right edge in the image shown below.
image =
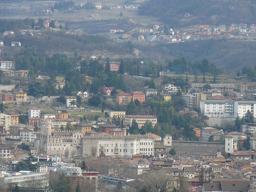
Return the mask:
[(256, 117), (256, 101), (236, 101), (234, 103), (235, 118), (242, 118), (249, 110), (253, 117)]

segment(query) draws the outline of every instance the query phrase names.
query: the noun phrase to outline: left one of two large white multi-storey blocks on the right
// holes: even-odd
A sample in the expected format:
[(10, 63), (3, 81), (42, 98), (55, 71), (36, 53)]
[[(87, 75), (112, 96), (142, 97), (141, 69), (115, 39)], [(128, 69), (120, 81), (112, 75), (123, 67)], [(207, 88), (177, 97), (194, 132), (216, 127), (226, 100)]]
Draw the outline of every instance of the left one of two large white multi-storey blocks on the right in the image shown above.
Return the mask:
[(201, 113), (207, 117), (234, 118), (234, 107), (231, 100), (201, 100)]

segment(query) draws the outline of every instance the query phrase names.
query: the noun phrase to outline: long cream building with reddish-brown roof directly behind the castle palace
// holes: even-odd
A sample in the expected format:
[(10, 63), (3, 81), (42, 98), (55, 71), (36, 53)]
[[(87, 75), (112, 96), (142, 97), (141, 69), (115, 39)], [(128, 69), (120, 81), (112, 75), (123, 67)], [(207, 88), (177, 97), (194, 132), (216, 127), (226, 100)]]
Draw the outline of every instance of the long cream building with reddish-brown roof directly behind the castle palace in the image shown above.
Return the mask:
[(151, 122), (153, 127), (157, 123), (157, 118), (152, 115), (128, 115), (124, 117), (124, 124), (128, 126), (132, 126), (133, 120), (135, 120), (138, 123), (138, 126), (140, 129), (146, 122)]

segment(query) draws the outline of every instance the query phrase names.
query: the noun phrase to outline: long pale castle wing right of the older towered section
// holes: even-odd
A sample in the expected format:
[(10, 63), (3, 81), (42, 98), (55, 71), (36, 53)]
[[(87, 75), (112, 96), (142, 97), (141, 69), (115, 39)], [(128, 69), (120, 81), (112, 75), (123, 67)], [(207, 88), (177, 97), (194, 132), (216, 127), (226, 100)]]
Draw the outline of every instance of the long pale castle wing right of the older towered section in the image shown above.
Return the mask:
[(85, 136), (82, 138), (82, 155), (106, 156), (154, 155), (154, 138), (148, 135)]

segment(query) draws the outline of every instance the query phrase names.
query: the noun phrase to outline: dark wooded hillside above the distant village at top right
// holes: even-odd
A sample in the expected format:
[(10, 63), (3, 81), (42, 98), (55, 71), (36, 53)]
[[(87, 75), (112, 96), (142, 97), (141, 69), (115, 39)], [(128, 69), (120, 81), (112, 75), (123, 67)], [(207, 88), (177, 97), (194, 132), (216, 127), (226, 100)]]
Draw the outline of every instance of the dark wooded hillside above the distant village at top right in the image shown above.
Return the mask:
[[(251, 24), (256, 20), (254, 0), (149, 0), (142, 4), (139, 13), (158, 17), (174, 28), (198, 24)], [(184, 13), (190, 13), (192, 16), (184, 19)]]

